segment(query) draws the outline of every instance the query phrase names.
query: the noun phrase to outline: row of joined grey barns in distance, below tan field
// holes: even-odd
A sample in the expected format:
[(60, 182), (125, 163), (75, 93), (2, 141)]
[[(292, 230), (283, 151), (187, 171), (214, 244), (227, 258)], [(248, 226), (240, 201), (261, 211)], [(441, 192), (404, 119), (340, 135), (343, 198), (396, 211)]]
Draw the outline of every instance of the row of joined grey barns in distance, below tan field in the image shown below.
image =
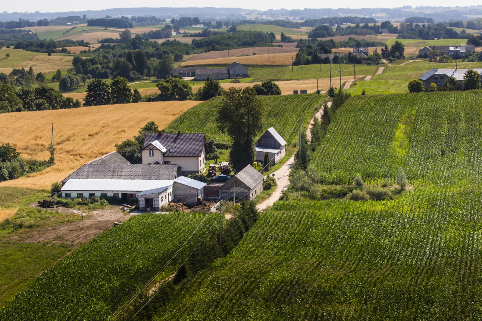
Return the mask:
[(174, 68), (171, 77), (179, 75), (181, 77), (196, 77), (198, 81), (205, 81), (207, 77), (222, 80), (229, 78), (248, 77), (248, 68), (244, 65), (234, 62), (226, 68), (206, 68), (206, 67), (186, 67)]

